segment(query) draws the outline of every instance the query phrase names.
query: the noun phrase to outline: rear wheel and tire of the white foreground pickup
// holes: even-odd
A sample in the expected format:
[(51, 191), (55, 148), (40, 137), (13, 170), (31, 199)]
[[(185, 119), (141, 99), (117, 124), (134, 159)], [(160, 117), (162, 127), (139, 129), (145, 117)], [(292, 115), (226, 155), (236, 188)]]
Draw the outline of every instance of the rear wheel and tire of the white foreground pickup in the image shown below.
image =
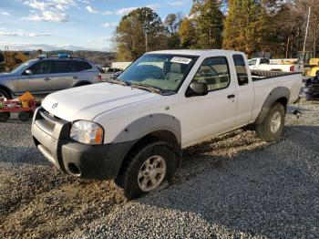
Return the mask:
[(284, 118), (283, 104), (273, 104), (262, 123), (256, 125), (257, 136), (265, 141), (279, 140), (283, 136)]

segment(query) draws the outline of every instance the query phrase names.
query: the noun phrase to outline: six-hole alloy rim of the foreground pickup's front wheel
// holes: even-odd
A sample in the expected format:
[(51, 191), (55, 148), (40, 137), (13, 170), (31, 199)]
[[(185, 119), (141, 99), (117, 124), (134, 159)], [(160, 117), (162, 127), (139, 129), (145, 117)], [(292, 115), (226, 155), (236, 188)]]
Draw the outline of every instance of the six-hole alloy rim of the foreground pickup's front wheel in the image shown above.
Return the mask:
[(166, 162), (160, 156), (151, 156), (139, 169), (140, 190), (150, 192), (158, 188), (166, 175)]

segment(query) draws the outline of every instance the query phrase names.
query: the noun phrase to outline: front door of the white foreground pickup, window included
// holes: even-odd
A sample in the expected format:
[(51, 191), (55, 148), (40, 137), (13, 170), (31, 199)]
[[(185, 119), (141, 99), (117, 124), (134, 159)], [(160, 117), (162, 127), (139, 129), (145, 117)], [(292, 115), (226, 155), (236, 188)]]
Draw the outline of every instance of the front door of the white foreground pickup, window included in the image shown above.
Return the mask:
[(183, 99), (180, 120), (183, 146), (232, 130), (235, 125), (236, 88), (227, 58), (206, 58), (193, 81), (206, 83), (209, 93)]

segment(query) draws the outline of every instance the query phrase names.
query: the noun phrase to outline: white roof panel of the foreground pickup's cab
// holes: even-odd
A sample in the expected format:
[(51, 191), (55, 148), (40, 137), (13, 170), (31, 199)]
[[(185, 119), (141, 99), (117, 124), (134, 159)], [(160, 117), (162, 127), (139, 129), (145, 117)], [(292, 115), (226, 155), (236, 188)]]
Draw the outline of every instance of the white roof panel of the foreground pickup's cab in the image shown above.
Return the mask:
[(202, 56), (214, 53), (216, 55), (221, 54), (243, 54), (241, 51), (234, 50), (221, 50), (221, 49), (202, 49), (202, 50), (189, 50), (189, 49), (181, 49), (181, 50), (160, 50), (160, 51), (152, 51), (148, 54), (176, 54), (176, 55), (189, 55), (189, 56)]

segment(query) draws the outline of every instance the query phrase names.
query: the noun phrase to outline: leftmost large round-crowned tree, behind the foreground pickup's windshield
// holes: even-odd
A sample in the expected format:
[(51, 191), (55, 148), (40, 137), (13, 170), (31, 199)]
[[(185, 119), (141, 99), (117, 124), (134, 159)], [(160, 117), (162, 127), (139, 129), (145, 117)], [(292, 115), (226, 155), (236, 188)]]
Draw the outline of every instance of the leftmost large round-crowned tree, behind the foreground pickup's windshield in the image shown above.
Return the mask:
[(149, 7), (135, 9), (123, 16), (115, 32), (118, 60), (135, 60), (146, 51), (166, 48), (164, 26)]

